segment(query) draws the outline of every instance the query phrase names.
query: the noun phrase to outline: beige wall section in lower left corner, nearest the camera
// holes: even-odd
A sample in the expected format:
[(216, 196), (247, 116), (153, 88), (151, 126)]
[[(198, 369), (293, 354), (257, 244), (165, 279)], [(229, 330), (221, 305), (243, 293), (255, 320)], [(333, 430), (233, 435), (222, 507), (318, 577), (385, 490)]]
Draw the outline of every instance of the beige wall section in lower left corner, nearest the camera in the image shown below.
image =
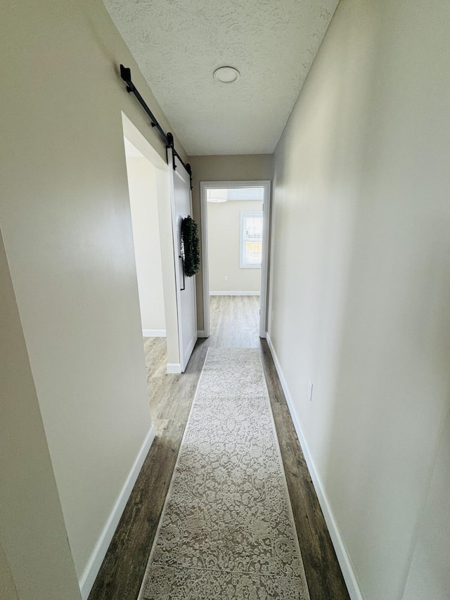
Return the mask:
[(0, 233), (0, 597), (79, 600)]

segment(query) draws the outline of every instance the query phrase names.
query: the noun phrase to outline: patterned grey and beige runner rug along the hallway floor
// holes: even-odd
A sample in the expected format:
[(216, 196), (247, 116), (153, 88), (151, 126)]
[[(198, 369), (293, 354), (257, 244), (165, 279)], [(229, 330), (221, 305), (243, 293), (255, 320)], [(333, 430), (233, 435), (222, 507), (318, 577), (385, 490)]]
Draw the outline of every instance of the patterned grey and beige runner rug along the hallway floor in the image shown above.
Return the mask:
[(309, 600), (261, 359), (210, 348), (139, 599)]

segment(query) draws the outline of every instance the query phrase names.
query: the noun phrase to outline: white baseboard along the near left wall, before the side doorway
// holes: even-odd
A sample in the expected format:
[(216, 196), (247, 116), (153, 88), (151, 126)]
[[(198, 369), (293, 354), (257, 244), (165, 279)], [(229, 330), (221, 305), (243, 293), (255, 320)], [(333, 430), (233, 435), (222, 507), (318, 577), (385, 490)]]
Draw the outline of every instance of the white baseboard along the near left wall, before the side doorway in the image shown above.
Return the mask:
[(139, 449), (136, 459), (134, 459), (134, 463), (127, 475), (127, 479), (122, 486), (122, 490), (120, 490), (119, 495), (117, 496), (113, 510), (110, 512), (110, 516), (108, 517), (108, 521), (106, 521), (94, 550), (92, 551), (91, 556), (89, 556), (89, 561), (83, 571), (81, 579), (79, 580), (79, 589), (82, 593), (83, 600), (86, 600), (91, 592), (94, 581), (98, 575), (98, 571), (100, 570), (101, 563), (103, 563), (103, 558), (105, 558), (106, 551), (108, 550), (110, 542), (113, 539), (114, 532), (119, 524), (125, 504), (127, 504), (131, 490), (133, 489), (136, 479), (138, 478), (139, 471), (141, 471), (143, 461), (146, 459), (148, 450), (155, 439), (155, 433), (155, 426), (150, 426), (146, 438), (142, 442), (141, 449)]

